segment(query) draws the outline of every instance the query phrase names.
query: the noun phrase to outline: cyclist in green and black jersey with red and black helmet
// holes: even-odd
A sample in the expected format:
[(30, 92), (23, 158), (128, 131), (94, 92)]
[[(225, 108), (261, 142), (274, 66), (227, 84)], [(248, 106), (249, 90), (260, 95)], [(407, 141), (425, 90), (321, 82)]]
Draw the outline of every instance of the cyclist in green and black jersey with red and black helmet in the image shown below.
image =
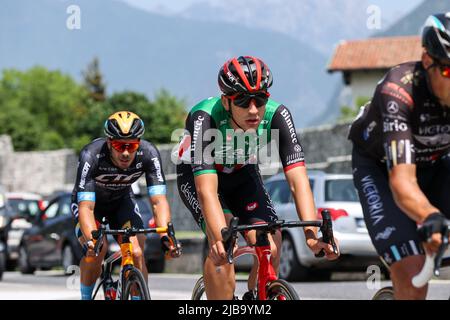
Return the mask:
[[(315, 220), (317, 215), (291, 113), (269, 99), (272, 73), (267, 65), (255, 57), (233, 58), (220, 69), (218, 81), (222, 96), (198, 103), (186, 119), (177, 154), (177, 183), (183, 202), (208, 237), (207, 297), (232, 299), (234, 267), (227, 264), (221, 229), (233, 215), (240, 223), (277, 219), (257, 165), (260, 148), (272, 140), (278, 142), (300, 219)], [(305, 235), (311, 251), (324, 249), (328, 259), (337, 258), (333, 248), (318, 238), (317, 228), (305, 228)], [(247, 241), (256, 242), (255, 232), (247, 235)], [(281, 233), (270, 237), (270, 242), (277, 270)], [(250, 290), (256, 286), (256, 271), (254, 267), (249, 277)]]

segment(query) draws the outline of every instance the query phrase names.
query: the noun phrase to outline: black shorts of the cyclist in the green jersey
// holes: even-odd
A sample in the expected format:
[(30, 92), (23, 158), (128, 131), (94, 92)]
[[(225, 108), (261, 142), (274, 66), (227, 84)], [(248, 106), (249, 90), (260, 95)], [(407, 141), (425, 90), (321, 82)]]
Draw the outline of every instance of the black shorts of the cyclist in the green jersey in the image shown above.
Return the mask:
[[(278, 219), (272, 201), (256, 165), (246, 165), (232, 173), (217, 172), (218, 196), (225, 214), (239, 218), (239, 224), (272, 222)], [(205, 221), (198, 201), (192, 167), (177, 166), (178, 192), (199, 227), (206, 231)]]

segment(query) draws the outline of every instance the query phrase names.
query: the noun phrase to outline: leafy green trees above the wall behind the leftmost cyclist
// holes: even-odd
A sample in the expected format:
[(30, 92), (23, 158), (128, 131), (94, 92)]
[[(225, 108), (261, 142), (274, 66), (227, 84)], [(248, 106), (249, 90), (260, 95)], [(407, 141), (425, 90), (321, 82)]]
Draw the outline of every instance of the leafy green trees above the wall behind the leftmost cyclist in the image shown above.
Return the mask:
[[(88, 67), (96, 68), (98, 71), (98, 61)], [(0, 134), (10, 135), (18, 151), (80, 151), (103, 136), (105, 120), (120, 110), (137, 113), (145, 123), (144, 138), (154, 143), (171, 142), (172, 131), (184, 126), (186, 102), (167, 90), (158, 91), (154, 101), (133, 91), (115, 93), (104, 101), (93, 99), (91, 93), (60, 71), (39, 66), (26, 71), (4, 70), (0, 78)]]

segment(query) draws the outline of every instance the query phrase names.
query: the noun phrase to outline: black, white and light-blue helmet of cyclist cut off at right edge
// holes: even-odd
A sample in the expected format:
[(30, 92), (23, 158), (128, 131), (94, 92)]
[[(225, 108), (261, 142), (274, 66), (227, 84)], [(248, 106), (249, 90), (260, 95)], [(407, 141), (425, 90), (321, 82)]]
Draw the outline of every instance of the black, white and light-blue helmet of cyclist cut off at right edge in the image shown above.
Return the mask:
[(432, 58), (450, 61), (450, 12), (428, 17), (422, 31), (422, 46)]

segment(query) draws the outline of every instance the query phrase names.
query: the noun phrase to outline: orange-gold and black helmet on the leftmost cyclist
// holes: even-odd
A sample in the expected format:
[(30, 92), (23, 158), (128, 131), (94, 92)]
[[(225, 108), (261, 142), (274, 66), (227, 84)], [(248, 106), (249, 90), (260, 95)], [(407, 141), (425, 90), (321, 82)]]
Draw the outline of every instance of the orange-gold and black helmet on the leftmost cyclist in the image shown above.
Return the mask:
[(105, 134), (111, 139), (140, 139), (144, 134), (144, 121), (130, 111), (112, 114), (105, 122)]

